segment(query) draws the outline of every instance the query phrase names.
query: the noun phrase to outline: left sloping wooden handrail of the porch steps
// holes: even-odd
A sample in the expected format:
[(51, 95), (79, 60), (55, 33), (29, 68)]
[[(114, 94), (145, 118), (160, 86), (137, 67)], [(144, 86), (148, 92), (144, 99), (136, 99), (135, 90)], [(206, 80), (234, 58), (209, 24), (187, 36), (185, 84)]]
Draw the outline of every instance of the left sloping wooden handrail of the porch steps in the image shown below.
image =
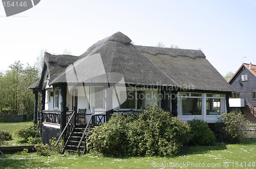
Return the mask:
[[(54, 147), (58, 146), (60, 140), (62, 141), (61, 145), (59, 146), (60, 149), (62, 148), (62, 143), (64, 143), (66, 141), (65, 139), (67, 139), (65, 145), (68, 143), (68, 138), (75, 127), (74, 121), (75, 121), (75, 111), (72, 111), (72, 114), (70, 115), (70, 118), (69, 118), (65, 128), (62, 130), (61, 134), (59, 135), (59, 138), (57, 139), (57, 142)], [(66, 132), (66, 134), (64, 134), (65, 132)], [(63, 147), (65, 147), (65, 145)]]

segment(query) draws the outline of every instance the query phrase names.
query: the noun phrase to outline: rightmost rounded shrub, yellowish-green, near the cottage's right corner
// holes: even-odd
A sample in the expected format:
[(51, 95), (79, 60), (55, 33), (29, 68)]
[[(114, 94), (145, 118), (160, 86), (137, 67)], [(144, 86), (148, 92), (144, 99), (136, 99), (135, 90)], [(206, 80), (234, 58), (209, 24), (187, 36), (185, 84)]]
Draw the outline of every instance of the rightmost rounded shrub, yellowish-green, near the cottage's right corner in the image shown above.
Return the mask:
[(241, 113), (236, 115), (234, 112), (222, 114), (221, 120), (225, 125), (224, 129), (227, 135), (231, 138), (231, 143), (239, 143), (245, 135), (249, 121)]

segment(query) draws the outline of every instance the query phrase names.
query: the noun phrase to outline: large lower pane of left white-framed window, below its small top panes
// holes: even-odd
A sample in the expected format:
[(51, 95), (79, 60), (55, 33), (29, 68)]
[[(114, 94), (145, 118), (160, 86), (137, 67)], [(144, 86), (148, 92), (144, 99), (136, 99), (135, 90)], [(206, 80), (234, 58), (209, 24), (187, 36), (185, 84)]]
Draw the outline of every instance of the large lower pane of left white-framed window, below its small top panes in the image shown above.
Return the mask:
[(202, 115), (202, 99), (182, 99), (182, 115)]

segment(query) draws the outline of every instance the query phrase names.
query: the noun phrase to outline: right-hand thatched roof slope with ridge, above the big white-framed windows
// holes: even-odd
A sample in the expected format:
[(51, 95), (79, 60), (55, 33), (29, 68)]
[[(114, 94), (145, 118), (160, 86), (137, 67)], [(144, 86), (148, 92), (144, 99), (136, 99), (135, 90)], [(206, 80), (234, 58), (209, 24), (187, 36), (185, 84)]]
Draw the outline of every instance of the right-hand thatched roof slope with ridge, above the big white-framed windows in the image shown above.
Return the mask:
[(192, 85), (195, 90), (233, 91), (201, 50), (136, 47), (182, 88)]

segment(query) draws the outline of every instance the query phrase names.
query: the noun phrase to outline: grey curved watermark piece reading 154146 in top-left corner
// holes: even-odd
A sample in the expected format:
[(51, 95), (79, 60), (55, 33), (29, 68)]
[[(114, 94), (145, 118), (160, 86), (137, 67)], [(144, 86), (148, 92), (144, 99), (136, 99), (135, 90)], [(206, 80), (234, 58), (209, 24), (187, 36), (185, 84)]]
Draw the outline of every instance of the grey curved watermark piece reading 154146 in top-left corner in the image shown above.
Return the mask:
[(40, 0), (2, 0), (6, 16), (12, 16), (36, 6)]

